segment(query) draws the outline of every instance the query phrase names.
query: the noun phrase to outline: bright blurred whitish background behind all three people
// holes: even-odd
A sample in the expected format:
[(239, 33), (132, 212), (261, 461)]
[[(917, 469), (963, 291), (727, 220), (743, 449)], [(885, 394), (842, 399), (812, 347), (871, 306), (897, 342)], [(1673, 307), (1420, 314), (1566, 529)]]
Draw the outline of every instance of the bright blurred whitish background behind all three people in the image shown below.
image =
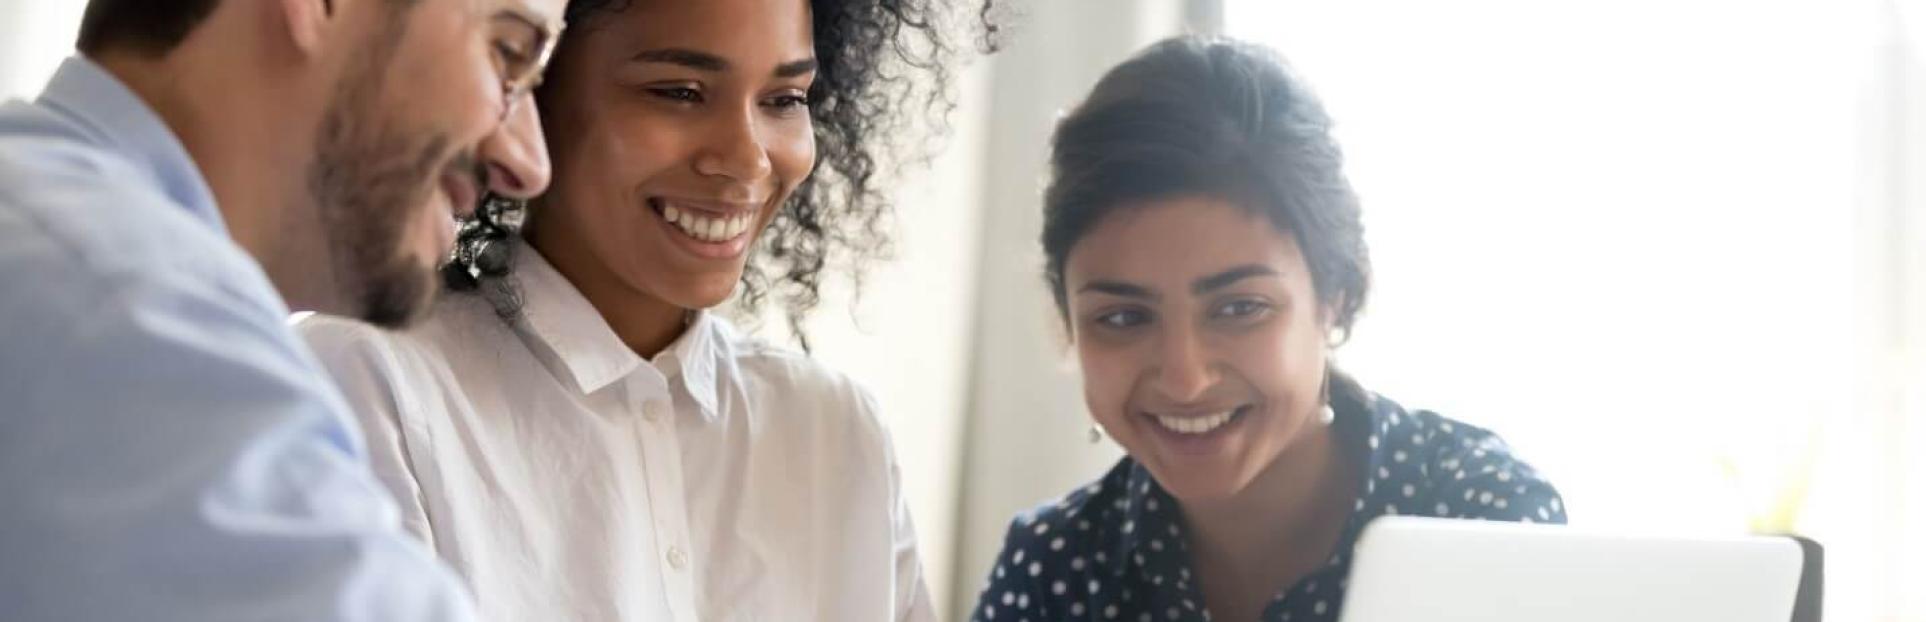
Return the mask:
[[(0, 96), (83, 6), (0, 0)], [(1339, 121), (1377, 268), (1342, 366), (1504, 433), (1574, 524), (1814, 535), (1828, 620), (1926, 622), (1926, 0), (1005, 13), (898, 258), (811, 325), (886, 408), (946, 612), (1013, 512), (1117, 458), (1038, 277), (1042, 164), (1106, 67), (1188, 31), (1279, 48)]]

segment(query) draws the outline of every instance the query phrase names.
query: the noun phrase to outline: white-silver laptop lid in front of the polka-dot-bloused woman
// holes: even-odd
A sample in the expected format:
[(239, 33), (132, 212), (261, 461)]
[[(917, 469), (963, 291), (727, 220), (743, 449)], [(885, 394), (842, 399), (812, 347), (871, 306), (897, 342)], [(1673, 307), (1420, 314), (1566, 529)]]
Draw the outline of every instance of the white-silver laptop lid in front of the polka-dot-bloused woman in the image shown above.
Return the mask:
[(1816, 595), (1818, 549), (1791, 537), (1387, 516), (1358, 539), (1340, 620), (1801, 622)]

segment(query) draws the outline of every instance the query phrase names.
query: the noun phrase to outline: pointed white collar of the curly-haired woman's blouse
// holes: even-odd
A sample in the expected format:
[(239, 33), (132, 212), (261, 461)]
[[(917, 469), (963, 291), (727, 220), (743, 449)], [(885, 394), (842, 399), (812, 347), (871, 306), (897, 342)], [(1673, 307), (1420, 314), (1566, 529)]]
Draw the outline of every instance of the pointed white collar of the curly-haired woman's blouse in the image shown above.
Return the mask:
[(541, 252), (522, 239), (514, 239), (514, 245), (510, 273), (520, 279), (524, 300), (518, 329), (524, 341), (551, 354), (555, 360), (551, 372), (566, 374), (576, 389), (587, 395), (647, 364), (666, 381), (682, 381), (703, 420), (716, 420), (720, 389), (740, 377), (734, 356), (736, 333), (728, 322), (697, 310), (682, 337), (655, 360), (645, 362)]

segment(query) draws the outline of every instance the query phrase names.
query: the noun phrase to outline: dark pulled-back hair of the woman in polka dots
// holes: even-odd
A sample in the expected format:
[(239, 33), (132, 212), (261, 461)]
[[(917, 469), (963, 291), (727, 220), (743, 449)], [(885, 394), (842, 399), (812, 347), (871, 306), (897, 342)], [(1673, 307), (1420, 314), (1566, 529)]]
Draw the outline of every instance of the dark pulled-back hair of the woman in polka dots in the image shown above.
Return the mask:
[(1269, 48), (1167, 39), (1109, 69), (1052, 139), (1044, 277), (1067, 320), (1063, 260), (1115, 210), (1213, 196), (1290, 233), (1333, 327), (1350, 333), (1371, 281), (1358, 196), (1331, 117)]

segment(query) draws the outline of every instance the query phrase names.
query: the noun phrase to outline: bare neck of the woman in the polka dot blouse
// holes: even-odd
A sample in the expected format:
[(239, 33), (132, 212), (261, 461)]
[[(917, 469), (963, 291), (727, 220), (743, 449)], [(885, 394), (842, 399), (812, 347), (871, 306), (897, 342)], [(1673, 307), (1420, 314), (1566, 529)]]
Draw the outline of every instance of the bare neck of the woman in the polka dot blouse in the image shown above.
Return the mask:
[(1356, 468), (1333, 426), (1306, 426), (1304, 439), (1246, 489), (1181, 503), (1198, 585), (1217, 620), (1256, 620), (1271, 595), (1323, 566), (1342, 537)]

